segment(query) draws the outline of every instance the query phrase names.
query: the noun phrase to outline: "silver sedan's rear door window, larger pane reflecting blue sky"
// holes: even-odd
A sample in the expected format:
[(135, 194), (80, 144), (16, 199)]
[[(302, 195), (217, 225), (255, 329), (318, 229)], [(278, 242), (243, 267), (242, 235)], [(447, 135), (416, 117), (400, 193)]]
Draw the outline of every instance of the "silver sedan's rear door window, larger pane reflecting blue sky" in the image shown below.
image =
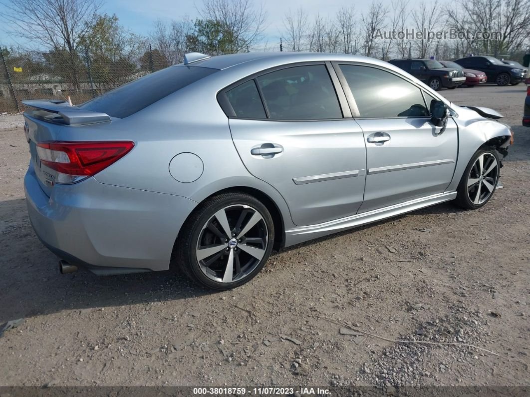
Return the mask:
[(342, 118), (337, 94), (324, 65), (295, 66), (257, 79), (271, 119)]

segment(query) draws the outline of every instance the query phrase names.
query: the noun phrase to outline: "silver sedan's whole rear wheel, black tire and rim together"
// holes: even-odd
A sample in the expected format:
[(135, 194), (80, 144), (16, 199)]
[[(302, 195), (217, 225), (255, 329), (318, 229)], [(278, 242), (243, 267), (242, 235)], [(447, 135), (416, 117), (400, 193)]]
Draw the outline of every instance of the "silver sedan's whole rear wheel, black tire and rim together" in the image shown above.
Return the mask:
[(274, 223), (258, 199), (230, 192), (214, 196), (188, 218), (177, 242), (184, 274), (226, 290), (250, 281), (263, 268), (274, 242)]

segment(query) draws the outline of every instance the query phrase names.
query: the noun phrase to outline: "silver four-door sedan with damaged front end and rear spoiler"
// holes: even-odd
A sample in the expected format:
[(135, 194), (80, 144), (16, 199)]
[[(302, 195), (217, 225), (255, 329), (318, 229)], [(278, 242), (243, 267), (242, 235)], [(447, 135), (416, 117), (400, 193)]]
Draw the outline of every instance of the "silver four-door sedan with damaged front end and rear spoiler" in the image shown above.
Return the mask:
[(246, 283), (272, 249), (444, 201), (491, 199), (513, 140), (359, 56), (246, 53), (147, 75), (81, 105), (24, 101), (31, 223), (62, 272)]

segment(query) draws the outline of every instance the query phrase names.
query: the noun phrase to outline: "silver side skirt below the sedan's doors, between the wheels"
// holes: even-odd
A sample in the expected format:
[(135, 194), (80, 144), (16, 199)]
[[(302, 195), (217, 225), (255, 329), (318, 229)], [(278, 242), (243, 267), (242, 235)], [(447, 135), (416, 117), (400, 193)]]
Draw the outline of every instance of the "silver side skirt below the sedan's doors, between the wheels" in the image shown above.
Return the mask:
[(351, 215), (346, 218), (330, 220), (317, 225), (301, 226), (285, 231), (285, 246), (317, 239), (328, 234), (338, 233), (343, 230), (378, 222), (401, 214), (415, 211), (420, 208), (430, 207), (440, 202), (451, 201), (456, 198), (456, 192), (438, 193), (436, 195), (414, 199), (401, 204), (375, 209), (362, 214)]

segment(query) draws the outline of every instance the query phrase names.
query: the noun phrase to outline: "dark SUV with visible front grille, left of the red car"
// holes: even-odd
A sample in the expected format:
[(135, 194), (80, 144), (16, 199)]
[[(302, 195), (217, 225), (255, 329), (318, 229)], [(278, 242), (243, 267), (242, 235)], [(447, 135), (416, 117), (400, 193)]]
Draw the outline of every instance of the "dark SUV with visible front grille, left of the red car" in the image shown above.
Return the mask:
[(435, 91), (441, 87), (455, 89), (465, 82), (462, 70), (444, 67), (434, 59), (392, 59), (388, 62), (410, 73)]

